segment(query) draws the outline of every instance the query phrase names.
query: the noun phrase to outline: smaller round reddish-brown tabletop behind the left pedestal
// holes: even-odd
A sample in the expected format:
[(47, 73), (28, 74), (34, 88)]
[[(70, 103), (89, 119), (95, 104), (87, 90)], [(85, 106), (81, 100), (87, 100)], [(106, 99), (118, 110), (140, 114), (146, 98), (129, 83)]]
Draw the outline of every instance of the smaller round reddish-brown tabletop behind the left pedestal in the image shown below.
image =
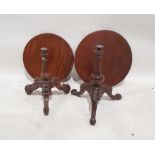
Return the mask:
[(48, 49), (48, 73), (60, 81), (64, 80), (72, 70), (74, 56), (69, 44), (55, 34), (40, 34), (27, 43), (23, 53), (27, 72), (33, 78), (40, 76), (42, 47)]

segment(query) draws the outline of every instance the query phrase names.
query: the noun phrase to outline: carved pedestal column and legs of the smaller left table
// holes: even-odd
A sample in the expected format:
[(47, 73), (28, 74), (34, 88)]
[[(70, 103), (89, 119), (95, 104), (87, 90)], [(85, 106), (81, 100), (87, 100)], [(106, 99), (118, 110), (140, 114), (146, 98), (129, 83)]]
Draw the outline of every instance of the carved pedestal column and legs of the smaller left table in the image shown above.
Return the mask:
[(42, 69), (40, 76), (36, 77), (34, 83), (26, 85), (25, 91), (28, 95), (31, 95), (33, 91), (38, 88), (42, 88), (42, 96), (44, 98), (44, 114), (48, 115), (49, 113), (49, 96), (52, 95), (51, 89), (56, 87), (59, 90), (64, 91), (65, 94), (69, 93), (70, 86), (68, 84), (61, 84), (56, 77), (53, 77), (48, 73), (48, 51), (47, 48), (41, 48), (41, 62)]

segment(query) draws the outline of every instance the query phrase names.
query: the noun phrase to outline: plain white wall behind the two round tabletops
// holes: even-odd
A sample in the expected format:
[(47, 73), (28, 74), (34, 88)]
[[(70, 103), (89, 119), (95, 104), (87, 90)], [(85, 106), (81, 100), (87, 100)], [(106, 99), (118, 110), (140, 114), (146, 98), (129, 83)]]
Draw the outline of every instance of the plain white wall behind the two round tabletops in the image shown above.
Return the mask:
[(153, 76), (154, 28), (155, 15), (0, 15), (0, 74), (24, 74), (23, 49), (37, 34), (58, 34), (75, 52), (87, 34), (109, 29), (123, 35), (131, 46), (129, 76)]

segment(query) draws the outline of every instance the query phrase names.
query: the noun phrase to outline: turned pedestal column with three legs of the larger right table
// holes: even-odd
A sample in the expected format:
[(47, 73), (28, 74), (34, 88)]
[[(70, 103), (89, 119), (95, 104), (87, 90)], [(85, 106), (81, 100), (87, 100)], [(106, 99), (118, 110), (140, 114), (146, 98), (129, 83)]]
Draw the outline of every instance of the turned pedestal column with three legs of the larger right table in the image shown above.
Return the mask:
[(101, 67), (103, 53), (103, 46), (97, 45), (96, 50), (93, 53), (95, 61), (93, 72), (89, 78), (89, 82), (81, 84), (80, 91), (77, 91), (76, 89), (73, 89), (71, 91), (72, 95), (76, 96), (82, 95), (85, 91), (89, 93), (92, 102), (92, 113), (90, 119), (91, 125), (96, 124), (97, 104), (104, 93), (106, 93), (112, 100), (120, 100), (122, 98), (120, 94), (112, 95), (112, 87), (104, 85), (105, 78), (103, 76)]

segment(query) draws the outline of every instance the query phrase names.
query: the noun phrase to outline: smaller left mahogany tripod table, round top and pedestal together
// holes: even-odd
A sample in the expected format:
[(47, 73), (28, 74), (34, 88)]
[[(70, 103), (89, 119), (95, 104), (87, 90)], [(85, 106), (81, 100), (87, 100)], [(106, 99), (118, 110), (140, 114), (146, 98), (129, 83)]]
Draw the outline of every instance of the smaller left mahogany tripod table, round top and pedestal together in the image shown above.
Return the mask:
[(68, 43), (55, 34), (40, 34), (32, 38), (24, 49), (24, 66), (27, 72), (35, 78), (34, 83), (25, 86), (25, 91), (31, 95), (33, 91), (42, 88), (44, 98), (44, 114), (49, 113), (49, 96), (51, 89), (69, 93), (70, 86), (61, 84), (71, 72), (73, 53)]

